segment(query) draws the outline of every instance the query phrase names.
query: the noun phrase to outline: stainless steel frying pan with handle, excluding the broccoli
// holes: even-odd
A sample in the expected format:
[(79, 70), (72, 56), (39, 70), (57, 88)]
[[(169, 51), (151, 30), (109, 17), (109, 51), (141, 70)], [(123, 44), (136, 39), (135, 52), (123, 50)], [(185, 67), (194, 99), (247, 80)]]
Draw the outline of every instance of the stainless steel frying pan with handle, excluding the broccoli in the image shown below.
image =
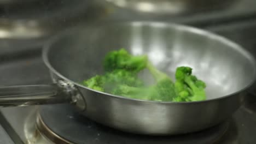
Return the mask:
[[(173, 77), (187, 65), (207, 83), (207, 100), (172, 103), (129, 99), (79, 83), (102, 73), (102, 59), (125, 47)], [(173, 135), (212, 127), (230, 117), (255, 81), (254, 58), (228, 39), (200, 29), (162, 22), (79, 26), (57, 35), (43, 50), (54, 84), (0, 88), (0, 105), (71, 103), (84, 116), (123, 131)]]

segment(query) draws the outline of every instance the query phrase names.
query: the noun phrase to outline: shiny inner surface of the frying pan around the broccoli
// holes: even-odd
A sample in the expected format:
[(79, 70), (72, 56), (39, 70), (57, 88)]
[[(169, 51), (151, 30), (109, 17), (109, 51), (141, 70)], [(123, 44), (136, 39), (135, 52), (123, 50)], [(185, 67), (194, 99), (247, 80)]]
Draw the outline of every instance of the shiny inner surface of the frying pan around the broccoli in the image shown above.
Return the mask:
[(240, 91), (254, 79), (253, 58), (240, 46), (211, 33), (167, 23), (78, 27), (50, 45), (48, 60), (61, 75), (80, 83), (101, 74), (104, 55), (120, 48), (133, 55), (148, 55), (172, 78), (178, 66), (193, 68), (193, 74), (207, 84), (207, 99)]

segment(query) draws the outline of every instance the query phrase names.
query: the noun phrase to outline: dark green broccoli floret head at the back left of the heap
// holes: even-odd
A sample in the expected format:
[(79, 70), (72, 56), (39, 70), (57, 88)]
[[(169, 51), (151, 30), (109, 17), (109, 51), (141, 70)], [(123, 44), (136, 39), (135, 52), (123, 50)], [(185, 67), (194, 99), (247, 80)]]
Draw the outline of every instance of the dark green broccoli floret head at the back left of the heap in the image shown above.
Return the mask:
[(148, 58), (145, 55), (133, 56), (125, 49), (108, 52), (104, 58), (103, 67), (106, 71), (123, 69), (138, 73), (146, 68)]

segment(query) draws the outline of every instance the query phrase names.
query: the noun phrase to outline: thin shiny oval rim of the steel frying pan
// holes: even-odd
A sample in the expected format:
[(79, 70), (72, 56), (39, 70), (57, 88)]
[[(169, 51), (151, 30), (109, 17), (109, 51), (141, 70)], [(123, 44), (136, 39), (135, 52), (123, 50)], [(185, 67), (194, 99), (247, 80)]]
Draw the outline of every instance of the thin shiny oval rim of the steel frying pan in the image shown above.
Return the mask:
[[(244, 92), (246, 91), (246, 89), (248, 89), (249, 87), (251, 87), (253, 85), (253, 83), (256, 81), (256, 61), (254, 56), (249, 53), (249, 51), (247, 51), (245, 48), (243, 48), (241, 45), (235, 43), (234, 41), (223, 37), (222, 35), (218, 35), (215, 34), (213, 32), (210, 31), (206, 31), (204, 29), (200, 29), (200, 28), (196, 28), (196, 27), (192, 27), (192, 26), (187, 26), (187, 25), (182, 25), (182, 24), (177, 24), (177, 23), (172, 23), (172, 22), (158, 22), (158, 21), (129, 21), (129, 22), (115, 22), (115, 24), (125, 24), (125, 25), (144, 25), (144, 24), (148, 24), (148, 25), (165, 25), (168, 27), (176, 27), (178, 29), (182, 29), (182, 31), (187, 31), (190, 33), (195, 33), (195, 34), (199, 34), (199, 35), (203, 35), (206, 36), (208, 38), (214, 39), (214, 40), (218, 40), (218, 41), (222, 41), (222, 43), (232, 47), (232, 49), (236, 49), (238, 52), (241, 53), (241, 55), (244, 55), (249, 62), (251, 62), (251, 65), (253, 65), (253, 77), (251, 79), (250, 82), (247, 83), (247, 85), (243, 86), (242, 88), (238, 89), (237, 91), (230, 93), (228, 95), (223, 95), (221, 97), (218, 98), (213, 98), (213, 99), (206, 99), (206, 100), (198, 100), (198, 101), (181, 101), (181, 102), (176, 102), (176, 101), (153, 101), (153, 100), (142, 100), (142, 99), (132, 99), (132, 98), (126, 98), (126, 97), (122, 97), (119, 95), (114, 95), (114, 94), (109, 94), (109, 93), (105, 93), (105, 92), (99, 92), (96, 91), (94, 89), (88, 88), (86, 86), (81, 85), (78, 82), (72, 81), (70, 79), (68, 79), (67, 77), (63, 76), (61, 73), (59, 73), (59, 71), (57, 71), (53, 65), (50, 64), (49, 62), (49, 57), (48, 57), (48, 53), (49, 50), (51, 49), (51, 46), (58, 40), (60, 39), (65, 33), (69, 30), (65, 30), (57, 35), (54, 35), (49, 41), (47, 41), (44, 46), (43, 46), (43, 50), (42, 50), (42, 58), (44, 61), (44, 64), (46, 65), (46, 67), (48, 67), (48, 69), (50, 71), (52, 71), (54, 74), (56, 74), (57, 76), (61, 77), (61, 79), (69, 81), (71, 83), (73, 83), (75, 86), (78, 86), (80, 88), (85, 88), (88, 89), (89, 91), (94, 91), (96, 93), (101, 93), (101, 94), (105, 94), (108, 95), (110, 97), (113, 98), (119, 98), (119, 99), (126, 99), (126, 100), (132, 100), (132, 101), (137, 101), (137, 102), (144, 102), (144, 103), (156, 103), (156, 104), (195, 104), (195, 103), (205, 103), (205, 102), (210, 102), (210, 101), (216, 101), (219, 99), (224, 99), (224, 98), (228, 98), (231, 97), (232, 95), (236, 95), (238, 93)], [(107, 22), (104, 23), (104, 25), (106, 25)], [(96, 24), (97, 25), (97, 24)], [(111, 23), (111, 25), (113, 25), (113, 23)], [(94, 24), (95, 26), (95, 24)]]

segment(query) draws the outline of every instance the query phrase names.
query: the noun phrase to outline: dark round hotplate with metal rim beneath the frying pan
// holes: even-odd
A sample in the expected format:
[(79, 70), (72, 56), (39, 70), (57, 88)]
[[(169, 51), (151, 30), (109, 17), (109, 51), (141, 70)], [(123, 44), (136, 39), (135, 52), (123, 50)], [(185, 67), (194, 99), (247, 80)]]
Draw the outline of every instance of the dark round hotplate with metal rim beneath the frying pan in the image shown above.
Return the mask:
[(41, 106), (37, 116), (37, 129), (54, 143), (214, 143), (228, 130), (225, 122), (216, 127), (177, 136), (146, 136), (125, 133), (105, 127), (80, 116), (71, 105)]

